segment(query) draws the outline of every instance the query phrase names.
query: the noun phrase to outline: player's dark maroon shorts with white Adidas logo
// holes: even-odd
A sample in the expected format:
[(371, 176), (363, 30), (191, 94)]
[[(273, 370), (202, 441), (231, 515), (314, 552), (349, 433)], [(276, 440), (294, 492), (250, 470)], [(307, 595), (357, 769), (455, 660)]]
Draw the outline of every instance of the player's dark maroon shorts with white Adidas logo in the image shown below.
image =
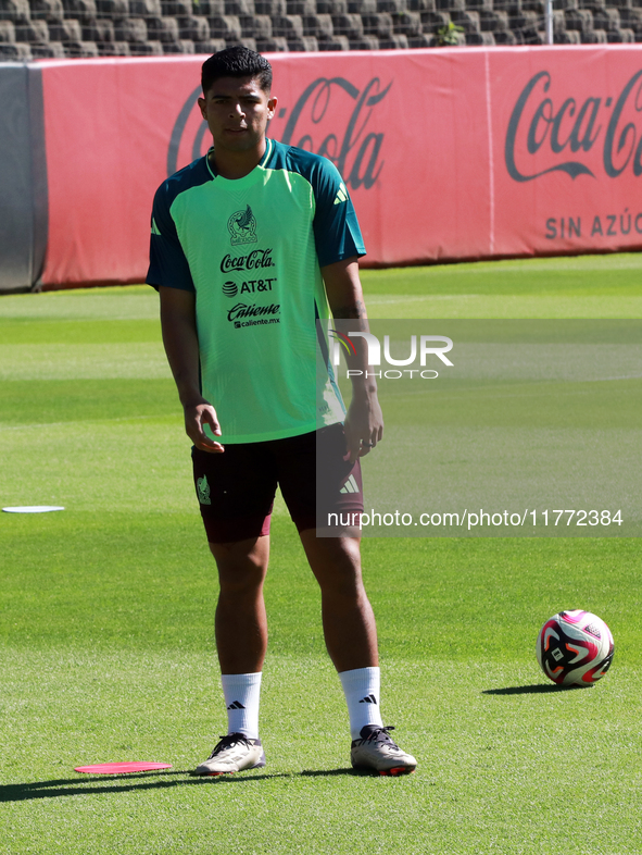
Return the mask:
[(343, 520), (351, 515), (358, 526), (361, 464), (348, 458), (342, 424), (286, 439), (228, 444), (218, 455), (192, 448), (207, 541), (234, 543), (269, 534), (277, 485), (299, 531), (325, 529), (333, 513)]

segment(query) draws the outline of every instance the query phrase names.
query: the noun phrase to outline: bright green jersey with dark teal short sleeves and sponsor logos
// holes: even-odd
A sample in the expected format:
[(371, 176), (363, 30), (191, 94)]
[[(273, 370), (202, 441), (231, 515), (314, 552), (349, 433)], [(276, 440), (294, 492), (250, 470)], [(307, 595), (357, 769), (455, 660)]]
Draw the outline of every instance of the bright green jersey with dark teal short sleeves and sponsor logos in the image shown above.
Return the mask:
[(341, 175), (302, 149), (267, 139), (242, 178), (217, 175), (205, 156), (161, 185), (147, 282), (196, 293), (201, 388), (222, 442), (343, 421), (315, 323), (330, 317), (319, 268), (364, 252)]

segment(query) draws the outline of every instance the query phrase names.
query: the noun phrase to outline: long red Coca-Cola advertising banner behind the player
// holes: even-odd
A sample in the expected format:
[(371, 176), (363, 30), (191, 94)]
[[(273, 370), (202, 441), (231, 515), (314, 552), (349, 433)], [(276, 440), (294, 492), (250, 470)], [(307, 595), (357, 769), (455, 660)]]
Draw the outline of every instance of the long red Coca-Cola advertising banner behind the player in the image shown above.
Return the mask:
[[(335, 161), (413, 264), (642, 246), (635, 45), (275, 54), (268, 135)], [(207, 150), (202, 57), (46, 61), (42, 281), (140, 282), (155, 188)]]

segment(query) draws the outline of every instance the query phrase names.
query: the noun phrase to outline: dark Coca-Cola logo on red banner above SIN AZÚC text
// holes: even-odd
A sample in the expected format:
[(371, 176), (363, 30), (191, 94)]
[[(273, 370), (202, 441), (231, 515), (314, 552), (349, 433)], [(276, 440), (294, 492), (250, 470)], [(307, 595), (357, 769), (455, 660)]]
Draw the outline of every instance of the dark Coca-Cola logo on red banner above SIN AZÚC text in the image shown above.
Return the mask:
[(511, 177), (642, 175), (642, 71), (616, 96), (574, 97), (568, 79), (555, 86), (551, 74), (540, 71), (520, 92), (504, 145)]

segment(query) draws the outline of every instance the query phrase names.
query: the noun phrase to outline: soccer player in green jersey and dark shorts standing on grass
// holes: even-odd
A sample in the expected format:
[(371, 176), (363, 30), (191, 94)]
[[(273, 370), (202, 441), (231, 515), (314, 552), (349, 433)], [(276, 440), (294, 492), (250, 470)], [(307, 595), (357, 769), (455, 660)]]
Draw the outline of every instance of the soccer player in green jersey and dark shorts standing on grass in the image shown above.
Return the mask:
[(147, 280), (160, 292), (163, 343), (221, 584), (215, 634), (229, 732), (196, 771), (265, 765), (263, 582), (278, 484), (320, 586), (352, 765), (410, 772), (415, 758), (395, 745), (379, 712), (377, 633), (358, 529), (317, 536), (333, 533), (320, 531), (327, 511), (358, 520), (358, 459), (383, 430), (365, 342), (353, 339), (349, 365), (363, 373), (345, 414), (315, 324), (331, 311), (367, 330), (354, 209), (329, 160), (266, 137), (277, 99), (265, 58), (243, 47), (219, 51), (202, 66), (202, 88), (199, 107), (214, 145), (156, 191)]

